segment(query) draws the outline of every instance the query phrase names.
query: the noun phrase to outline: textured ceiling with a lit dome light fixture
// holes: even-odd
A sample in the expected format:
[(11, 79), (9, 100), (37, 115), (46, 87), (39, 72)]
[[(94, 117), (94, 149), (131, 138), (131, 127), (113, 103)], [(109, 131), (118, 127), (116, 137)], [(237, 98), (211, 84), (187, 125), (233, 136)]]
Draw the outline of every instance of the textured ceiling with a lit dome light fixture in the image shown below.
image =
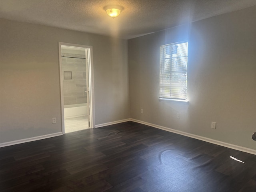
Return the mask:
[[(124, 7), (110, 18), (104, 6)], [(130, 39), (256, 5), (256, 0), (0, 0), (0, 18)]]

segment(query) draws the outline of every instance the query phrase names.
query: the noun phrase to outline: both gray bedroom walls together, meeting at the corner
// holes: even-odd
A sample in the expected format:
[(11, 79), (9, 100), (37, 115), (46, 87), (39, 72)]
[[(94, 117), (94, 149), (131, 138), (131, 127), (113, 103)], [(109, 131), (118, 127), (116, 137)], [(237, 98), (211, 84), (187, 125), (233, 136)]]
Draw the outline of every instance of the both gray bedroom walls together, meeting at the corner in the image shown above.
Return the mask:
[[(128, 43), (0, 19), (0, 143), (61, 131), (58, 42), (66, 42), (93, 46), (96, 124), (131, 117), (256, 149), (255, 12), (254, 6)], [(186, 39), (189, 103), (159, 102), (160, 45)]]

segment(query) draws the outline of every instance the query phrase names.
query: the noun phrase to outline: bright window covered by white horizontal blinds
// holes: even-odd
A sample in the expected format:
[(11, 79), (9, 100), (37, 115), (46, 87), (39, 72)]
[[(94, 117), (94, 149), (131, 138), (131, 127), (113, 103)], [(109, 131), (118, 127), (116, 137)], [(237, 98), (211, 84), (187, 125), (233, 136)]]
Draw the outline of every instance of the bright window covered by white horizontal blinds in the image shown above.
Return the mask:
[(160, 46), (160, 99), (187, 99), (188, 42)]

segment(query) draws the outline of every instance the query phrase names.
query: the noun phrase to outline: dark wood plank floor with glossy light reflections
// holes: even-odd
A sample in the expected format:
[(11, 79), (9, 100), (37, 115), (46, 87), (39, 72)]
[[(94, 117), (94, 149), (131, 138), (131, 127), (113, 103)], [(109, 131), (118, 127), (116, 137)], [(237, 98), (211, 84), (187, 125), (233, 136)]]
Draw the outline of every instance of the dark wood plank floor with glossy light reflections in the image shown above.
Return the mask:
[(256, 192), (256, 156), (125, 122), (0, 148), (0, 191)]

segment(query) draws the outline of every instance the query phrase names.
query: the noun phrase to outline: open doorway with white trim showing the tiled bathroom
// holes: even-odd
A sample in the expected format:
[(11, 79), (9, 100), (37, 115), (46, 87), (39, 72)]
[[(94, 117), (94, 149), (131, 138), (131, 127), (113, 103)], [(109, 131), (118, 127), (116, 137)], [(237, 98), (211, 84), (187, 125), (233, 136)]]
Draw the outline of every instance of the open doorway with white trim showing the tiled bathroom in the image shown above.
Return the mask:
[(94, 128), (92, 47), (59, 42), (62, 133)]

